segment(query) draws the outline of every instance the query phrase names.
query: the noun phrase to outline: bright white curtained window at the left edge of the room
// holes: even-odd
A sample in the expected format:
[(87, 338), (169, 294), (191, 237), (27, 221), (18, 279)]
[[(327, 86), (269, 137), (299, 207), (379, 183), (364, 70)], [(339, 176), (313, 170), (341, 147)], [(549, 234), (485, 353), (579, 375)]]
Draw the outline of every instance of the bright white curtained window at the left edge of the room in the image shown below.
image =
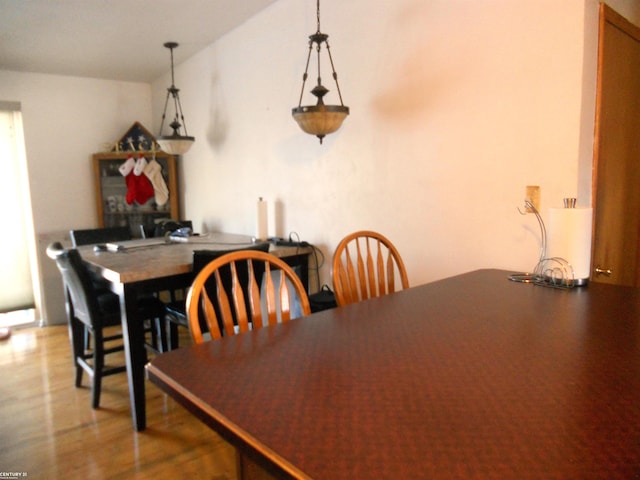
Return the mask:
[(30, 218), (20, 105), (0, 102), (0, 312), (32, 308)]

